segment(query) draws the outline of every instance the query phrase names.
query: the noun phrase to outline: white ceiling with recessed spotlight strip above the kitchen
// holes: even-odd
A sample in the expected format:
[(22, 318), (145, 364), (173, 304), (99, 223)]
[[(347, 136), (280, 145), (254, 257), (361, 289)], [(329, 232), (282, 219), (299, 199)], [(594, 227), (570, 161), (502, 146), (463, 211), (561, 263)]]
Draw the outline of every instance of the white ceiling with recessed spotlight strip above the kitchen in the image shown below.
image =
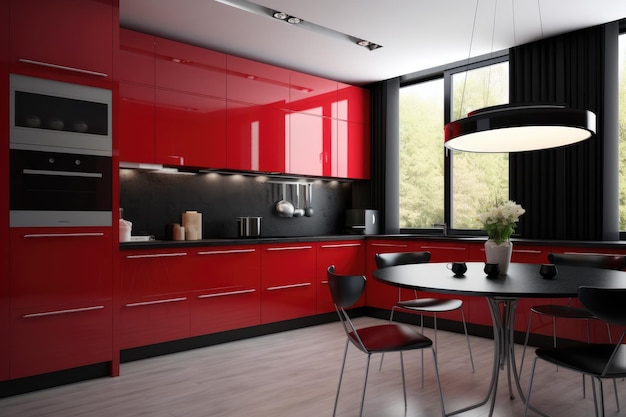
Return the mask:
[[(120, 22), (232, 55), (366, 84), (626, 17), (624, 0), (244, 2), (248, 9), (283, 11), (323, 29), (307, 30), (216, 0), (120, 0)], [(370, 51), (346, 37), (330, 36), (333, 31), (383, 47)]]

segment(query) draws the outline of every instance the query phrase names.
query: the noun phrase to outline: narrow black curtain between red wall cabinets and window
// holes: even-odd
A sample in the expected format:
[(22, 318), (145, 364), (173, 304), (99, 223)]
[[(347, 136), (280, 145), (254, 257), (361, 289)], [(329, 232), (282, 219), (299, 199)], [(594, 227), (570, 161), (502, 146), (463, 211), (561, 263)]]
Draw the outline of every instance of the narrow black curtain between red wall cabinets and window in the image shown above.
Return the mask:
[(380, 210), (381, 233), (400, 232), (400, 79), (370, 86), (371, 202)]

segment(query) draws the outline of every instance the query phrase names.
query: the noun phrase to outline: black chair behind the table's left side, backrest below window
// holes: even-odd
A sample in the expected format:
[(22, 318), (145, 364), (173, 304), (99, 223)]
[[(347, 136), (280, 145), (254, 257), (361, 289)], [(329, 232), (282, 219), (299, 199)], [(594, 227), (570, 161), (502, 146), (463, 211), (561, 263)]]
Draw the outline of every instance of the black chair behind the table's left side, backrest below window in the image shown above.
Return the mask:
[[(374, 255), (377, 268), (387, 268), (396, 265), (409, 265), (427, 263), (430, 261), (430, 252), (391, 252), (391, 253), (377, 253)], [(463, 331), (465, 332), (465, 339), (467, 341), (467, 351), (469, 352), (470, 363), (472, 365), (472, 372), (474, 372), (474, 358), (472, 357), (472, 347), (469, 341), (469, 335), (467, 334), (467, 324), (465, 323), (465, 312), (463, 311), (463, 300), (458, 298), (434, 298), (424, 297), (420, 298), (417, 291), (413, 291), (413, 299), (403, 300), (401, 289), (398, 288), (398, 301), (391, 307), (391, 314), (389, 321), (393, 321), (393, 313), (396, 310), (405, 310), (410, 312), (420, 313), (421, 331), (424, 333), (424, 313), (431, 313), (433, 315), (433, 328), (435, 334), (435, 350), (437, 350), (437, 313), (445, 313), (449, 311), (459, 310), (461, 311), (461, 320), (463, 322)], [(383, 356), (384, 358), (384, 356)], [(380, 360), (380, 368), (383, 366), (383, 358)], [(422, 355), (423, 359), (423, 355)], [(422, 385), (424, 384), (424, 371), (422, 360)]]

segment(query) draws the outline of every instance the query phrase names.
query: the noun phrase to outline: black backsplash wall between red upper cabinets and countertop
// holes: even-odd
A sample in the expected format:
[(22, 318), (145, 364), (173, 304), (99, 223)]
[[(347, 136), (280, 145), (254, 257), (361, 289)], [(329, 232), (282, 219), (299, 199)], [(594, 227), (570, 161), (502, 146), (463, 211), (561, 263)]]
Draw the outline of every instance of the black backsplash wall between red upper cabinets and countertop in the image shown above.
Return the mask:
[[(269, 182), (268, 182), (269, 181)], [(345, 212), (352, 201), (352, 183), (309, 180), (313, 187), (312, 217), (283, 218), (275, 210), (282, 198), (279, 180), (229, 174), (181, 174), (120, 170), (120, 207), (133, 223), (133, 235), (165, 239), (169, 223), (182, 213), (202, 213), (202, 237), (236, 238), (237, 217), (260, 216), (261, 237), (323, 236), (344, 233)], [(305, 187), (300, 187), (304, 207)], [(293, 193), (293, 194), (291, 194)], [(294, 187), (287, 199), (295, 201)]]

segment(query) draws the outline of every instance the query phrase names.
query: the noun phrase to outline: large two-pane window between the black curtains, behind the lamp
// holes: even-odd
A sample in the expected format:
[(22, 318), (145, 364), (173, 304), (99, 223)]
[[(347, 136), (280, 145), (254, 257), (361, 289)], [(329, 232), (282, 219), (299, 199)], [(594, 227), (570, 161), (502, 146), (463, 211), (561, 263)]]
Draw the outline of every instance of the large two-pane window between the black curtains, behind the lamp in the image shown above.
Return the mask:
[[(508, 154), (452, 152), (450, 164), (445, 163), (446, 120), (509, 100), (508, 61), (466, 68), (400, 89), (401, 229), (432, 229), (443, 222), (452, 229), (479, 229), (476, 217), (482, 205), (495, 197), (508, 198)], [(450, 104), (446, 96), (452, 97)]]

